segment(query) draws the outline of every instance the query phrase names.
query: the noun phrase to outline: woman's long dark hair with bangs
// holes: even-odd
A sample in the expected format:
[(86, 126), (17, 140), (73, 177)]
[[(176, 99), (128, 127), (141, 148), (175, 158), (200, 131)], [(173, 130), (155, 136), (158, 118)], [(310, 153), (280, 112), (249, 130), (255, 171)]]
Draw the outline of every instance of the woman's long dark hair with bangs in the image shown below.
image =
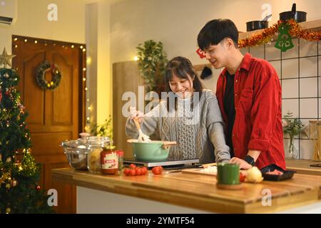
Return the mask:
[[(172, 58), (166, 66), (165, 69), (165, 86), (166, 86), (166, 92), (172, 92), (170, 89), (169, 82), (172, 80), (173, 76), (176, 76), (178, 78), (184, 78), (187, 80), (192, 79), (193, 81), (193, 89), (194, 92), (199, 93), (199, 99), (202, 96), (203, 91), (203, 85), (200, 82), (200, 79), (198, 78), (198, 73), (193, 68), (192, 63), (190, 63), (190, 60), (188, 58), (177, 56), (175, 58)], [(190, 78), (188, 78), (190, 76)], [(170, 95), (167, 95), (167, 110), (169, 111), (170, 108)], [(190, 103), (191, 110), (193, 110), (193, 102)], [(194, 104), (195, 105), (195, 104)], [(175, 97), (175, 110), (177, 109), (177, 97)]]

